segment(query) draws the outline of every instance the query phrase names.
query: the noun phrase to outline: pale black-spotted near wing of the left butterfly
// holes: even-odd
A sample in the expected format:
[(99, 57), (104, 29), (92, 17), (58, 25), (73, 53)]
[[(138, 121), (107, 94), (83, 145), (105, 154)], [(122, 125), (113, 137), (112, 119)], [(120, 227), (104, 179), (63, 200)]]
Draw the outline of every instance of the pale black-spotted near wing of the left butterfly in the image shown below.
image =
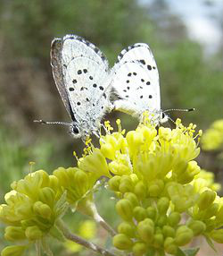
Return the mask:
[(71, 110), (80, 128), (91, 130), (110, 107), (108, 61), (93, 44), (73, 35), (62, 39), (61, 53)]

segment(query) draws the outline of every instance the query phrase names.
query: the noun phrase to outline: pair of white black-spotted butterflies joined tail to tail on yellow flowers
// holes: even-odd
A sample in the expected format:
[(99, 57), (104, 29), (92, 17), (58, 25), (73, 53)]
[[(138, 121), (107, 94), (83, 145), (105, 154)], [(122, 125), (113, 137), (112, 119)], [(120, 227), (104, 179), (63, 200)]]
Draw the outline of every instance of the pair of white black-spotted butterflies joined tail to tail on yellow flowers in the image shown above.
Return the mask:
[(138, 119), (147, 110), (155, 124), (168, 120), (161, 111), (157, 66), (146, 44), (122, 50), (118, 62), (110, 69), (99, 48), (84, 38), (67, 35), (54, 38), (51, 64), (55, 84), (72, 122), (37, 121), (41, 124), (68, 125), (75, 138), (84, 140), (91, 133), (98, 135), (104, 113), (112, 109)]

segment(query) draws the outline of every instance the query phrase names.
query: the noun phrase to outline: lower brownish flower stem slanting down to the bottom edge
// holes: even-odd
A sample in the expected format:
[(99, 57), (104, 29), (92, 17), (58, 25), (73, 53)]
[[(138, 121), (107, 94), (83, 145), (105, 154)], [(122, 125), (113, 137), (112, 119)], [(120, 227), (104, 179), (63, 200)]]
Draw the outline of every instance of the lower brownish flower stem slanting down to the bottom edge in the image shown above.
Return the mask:
[(87, 240), (83, 239), (82, 237), (72, 234), (67, 226), (64, 225), (62, 220), (57, 221), (58, 228), (62, 231), (62, 234), (70, 241), (78, 243), (80, 245), (85, 246), (86, 248), (96, 252), (100, 253), (103, 256), (115, 256), (114, 253), (109, 252), (102, 247), (96, 245), (95, 243), (88, 242)]

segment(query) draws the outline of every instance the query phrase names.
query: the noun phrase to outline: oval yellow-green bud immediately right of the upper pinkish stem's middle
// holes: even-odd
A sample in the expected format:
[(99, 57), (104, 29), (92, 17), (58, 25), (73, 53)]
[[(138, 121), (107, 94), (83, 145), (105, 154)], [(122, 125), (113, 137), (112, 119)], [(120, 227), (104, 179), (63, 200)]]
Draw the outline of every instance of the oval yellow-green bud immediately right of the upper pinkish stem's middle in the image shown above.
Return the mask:
[(130, 220), (133, 217), (133, 207), (127, 199), (121, 199), (116, 203), (116, 210), (121, 218)]

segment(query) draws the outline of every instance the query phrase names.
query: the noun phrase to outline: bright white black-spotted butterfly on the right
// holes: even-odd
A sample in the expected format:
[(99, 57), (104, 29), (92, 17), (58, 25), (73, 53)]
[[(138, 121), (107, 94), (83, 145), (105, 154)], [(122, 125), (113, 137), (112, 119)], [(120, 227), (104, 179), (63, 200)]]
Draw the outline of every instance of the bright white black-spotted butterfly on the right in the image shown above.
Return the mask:
[(137, 43), (120, 52), (112, 68), (114, 108), (142, 119), (147, 110), (155, 124), (168, 121), (161, 111), (159, 73), (150, 47)]

